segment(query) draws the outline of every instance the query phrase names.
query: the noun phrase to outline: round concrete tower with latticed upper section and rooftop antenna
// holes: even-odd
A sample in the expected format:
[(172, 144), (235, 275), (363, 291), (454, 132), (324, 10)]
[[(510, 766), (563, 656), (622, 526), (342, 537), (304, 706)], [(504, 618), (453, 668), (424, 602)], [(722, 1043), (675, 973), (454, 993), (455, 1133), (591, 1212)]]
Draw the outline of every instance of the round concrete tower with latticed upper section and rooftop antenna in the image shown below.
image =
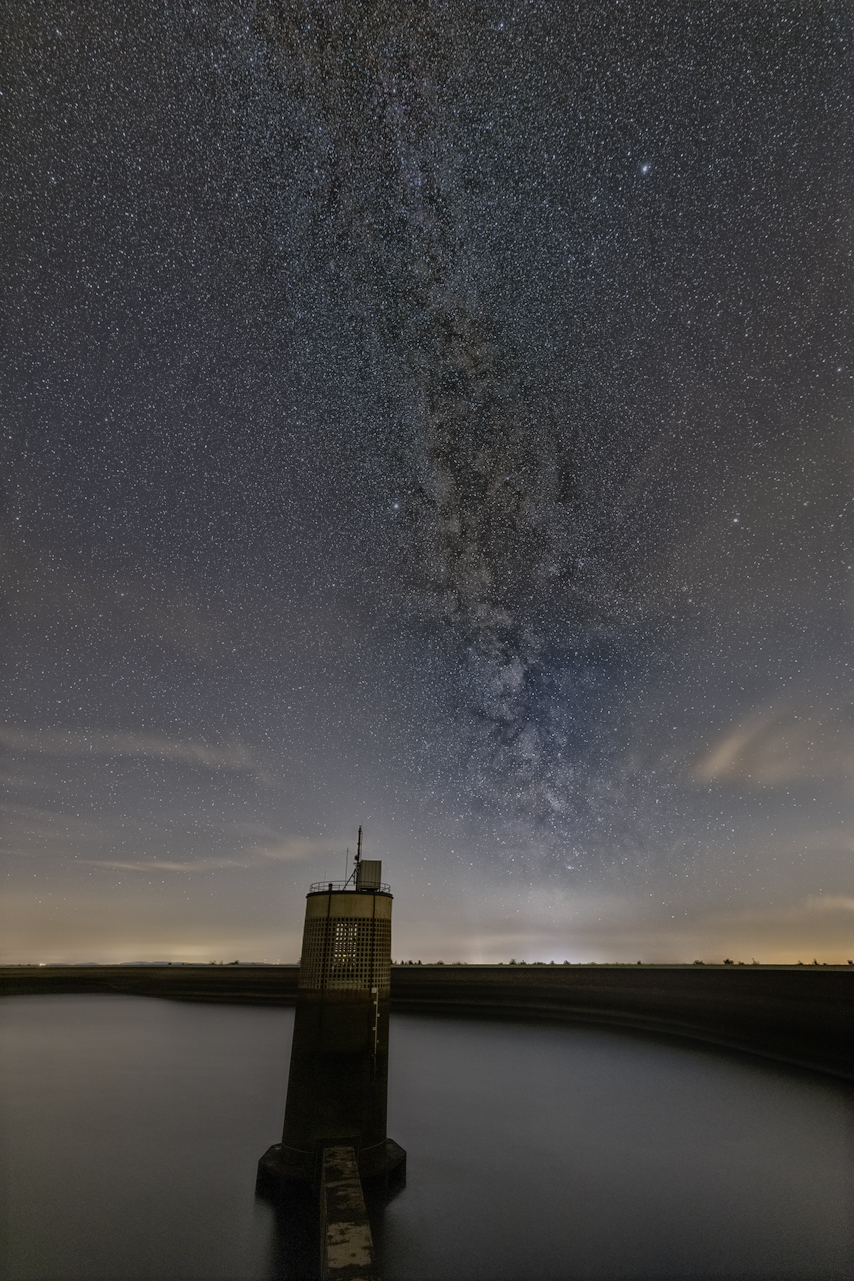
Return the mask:
[[(300, 959), (282, 1143), (260, 1171), (314, 1181), (324, 1148), (352, 1146), (362, 1179), (403, 1166), (385, 1134), (392, 895), (382, 863), (311, 885)], [(402, 1171), (401, 1171), (402, 1172)]]

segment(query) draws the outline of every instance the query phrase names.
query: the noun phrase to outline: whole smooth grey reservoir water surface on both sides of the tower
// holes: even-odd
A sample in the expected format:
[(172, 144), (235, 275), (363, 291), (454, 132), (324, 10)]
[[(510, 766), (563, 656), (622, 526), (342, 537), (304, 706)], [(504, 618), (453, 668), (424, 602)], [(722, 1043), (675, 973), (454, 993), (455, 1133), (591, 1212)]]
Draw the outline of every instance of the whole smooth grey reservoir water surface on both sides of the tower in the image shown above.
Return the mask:
[[(255, 1166), (293, 1013), (0, 1000), (3, 1258), (23, 1278), (273, 1277)], [(848, 1278), (850, 1090), (688, 1043), (394, 1016), (384, 1281)], [(286, 1228), (287, 1231), (287, 1228)]]

